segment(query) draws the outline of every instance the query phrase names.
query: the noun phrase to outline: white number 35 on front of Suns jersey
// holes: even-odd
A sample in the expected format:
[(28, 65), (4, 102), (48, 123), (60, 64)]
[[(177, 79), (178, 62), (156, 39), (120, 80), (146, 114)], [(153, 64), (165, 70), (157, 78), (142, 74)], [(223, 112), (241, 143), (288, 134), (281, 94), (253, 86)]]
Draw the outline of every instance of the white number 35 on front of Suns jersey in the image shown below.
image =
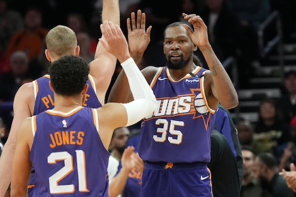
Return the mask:
[(166, 119), (157, 119), (155, 121), (155, 125), (163, 125), (163, 127), (157, 128), (156, 132), (161, 133), (161, 136), (153, 135), (154, 141), (164, 142), (167, 138), (167, 131), (169, 131), (169, 133), (171, 133), (172, 135), (177, 136), (177, 138), (173, 138), (172, 136), (169, 136), (167, 138), (171, 144), (181, 144), (182, 143), (183, 133), (179, 130), (175, 130), (175, 126), (184, 127), (183, 121), (171, 120), (171, 123), (169, 124), (169, 122)]

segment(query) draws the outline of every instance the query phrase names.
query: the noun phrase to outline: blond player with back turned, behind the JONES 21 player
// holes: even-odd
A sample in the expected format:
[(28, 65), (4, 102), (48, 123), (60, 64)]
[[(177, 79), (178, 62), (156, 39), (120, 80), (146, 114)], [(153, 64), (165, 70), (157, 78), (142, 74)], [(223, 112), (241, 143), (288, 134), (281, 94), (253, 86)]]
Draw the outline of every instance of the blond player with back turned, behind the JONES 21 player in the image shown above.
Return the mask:
[[(110, 20), (114, 24), (119, 25), (118, 0), (103, 0), (102, 21), (105, 20)], [(64, 55), (79, 55), (76, 35), (71, 29), (65, 26), (57, 26), (52, 29), (46, 36), (46, 45), (45, 54), (50, 62), (54, 62)], [(89, 90), (85, 94), (83, 106), (99, 107), (101, 104), (104, 104), (105, 95), (111, 82), (115, 65), (116, 58), (109, 54), (99, 42), (95, 59), (90, 63), (91, 76), (89, 75), (87, 82), (89, 84)], [(16, 145), (16, 131), (20, 123), (27, 117), (54, 107), (53, 92), (49, 89), (48, 81), (48, 75), (45, 75), (37, 81), (26, 83), (15, 95), (12, 126), (0, 158), (0, 196), (5, 194), (11, 181), (11, 166)]]

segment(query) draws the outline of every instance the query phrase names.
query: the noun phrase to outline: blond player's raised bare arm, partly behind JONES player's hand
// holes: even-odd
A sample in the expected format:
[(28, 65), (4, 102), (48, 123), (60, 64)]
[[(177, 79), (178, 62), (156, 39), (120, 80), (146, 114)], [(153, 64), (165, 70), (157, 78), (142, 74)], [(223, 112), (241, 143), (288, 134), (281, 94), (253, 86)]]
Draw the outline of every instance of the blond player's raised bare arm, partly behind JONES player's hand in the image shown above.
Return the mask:
[[(120, 24), (118, 0), (103, 0), (102, 21), (112, 21)], [(98, 42), (95, 59), (90, 63), (90, 75), (93, 76), (97, 97), (102, 104), (111, 82), (116, 66), (116, 58), (108, 53), (100, 42)]]

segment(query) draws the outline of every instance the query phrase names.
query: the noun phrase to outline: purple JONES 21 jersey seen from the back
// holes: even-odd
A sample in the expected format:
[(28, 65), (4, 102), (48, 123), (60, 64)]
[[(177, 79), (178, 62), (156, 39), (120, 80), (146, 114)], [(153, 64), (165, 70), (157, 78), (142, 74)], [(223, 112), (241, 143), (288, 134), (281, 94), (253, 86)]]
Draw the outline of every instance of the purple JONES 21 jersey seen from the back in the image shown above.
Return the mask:
[(32, 117), (34, 197), (108, 197), (110, 153), (97, 120), (97, 111), (88, 107), (68, 113), (47, 110)]

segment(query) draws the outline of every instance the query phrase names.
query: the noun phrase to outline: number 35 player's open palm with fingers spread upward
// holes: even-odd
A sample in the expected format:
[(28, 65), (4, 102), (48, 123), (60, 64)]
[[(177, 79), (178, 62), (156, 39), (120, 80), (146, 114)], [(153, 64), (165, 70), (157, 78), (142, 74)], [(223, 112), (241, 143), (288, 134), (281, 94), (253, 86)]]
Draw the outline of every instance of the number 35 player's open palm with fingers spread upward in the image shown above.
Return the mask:
[(150, 42), (150, 32), (152, 26), (146, 27), (146, 14), (142, 13), (141, 10), (137, 12), (137, 19), (135, 12), (131, 13), (131, 18), (126, 20), (127, 31), (128, 31), (128, 46), (131, 56), (134, 58), (136, 63), (139, 63), (145, 50)]

